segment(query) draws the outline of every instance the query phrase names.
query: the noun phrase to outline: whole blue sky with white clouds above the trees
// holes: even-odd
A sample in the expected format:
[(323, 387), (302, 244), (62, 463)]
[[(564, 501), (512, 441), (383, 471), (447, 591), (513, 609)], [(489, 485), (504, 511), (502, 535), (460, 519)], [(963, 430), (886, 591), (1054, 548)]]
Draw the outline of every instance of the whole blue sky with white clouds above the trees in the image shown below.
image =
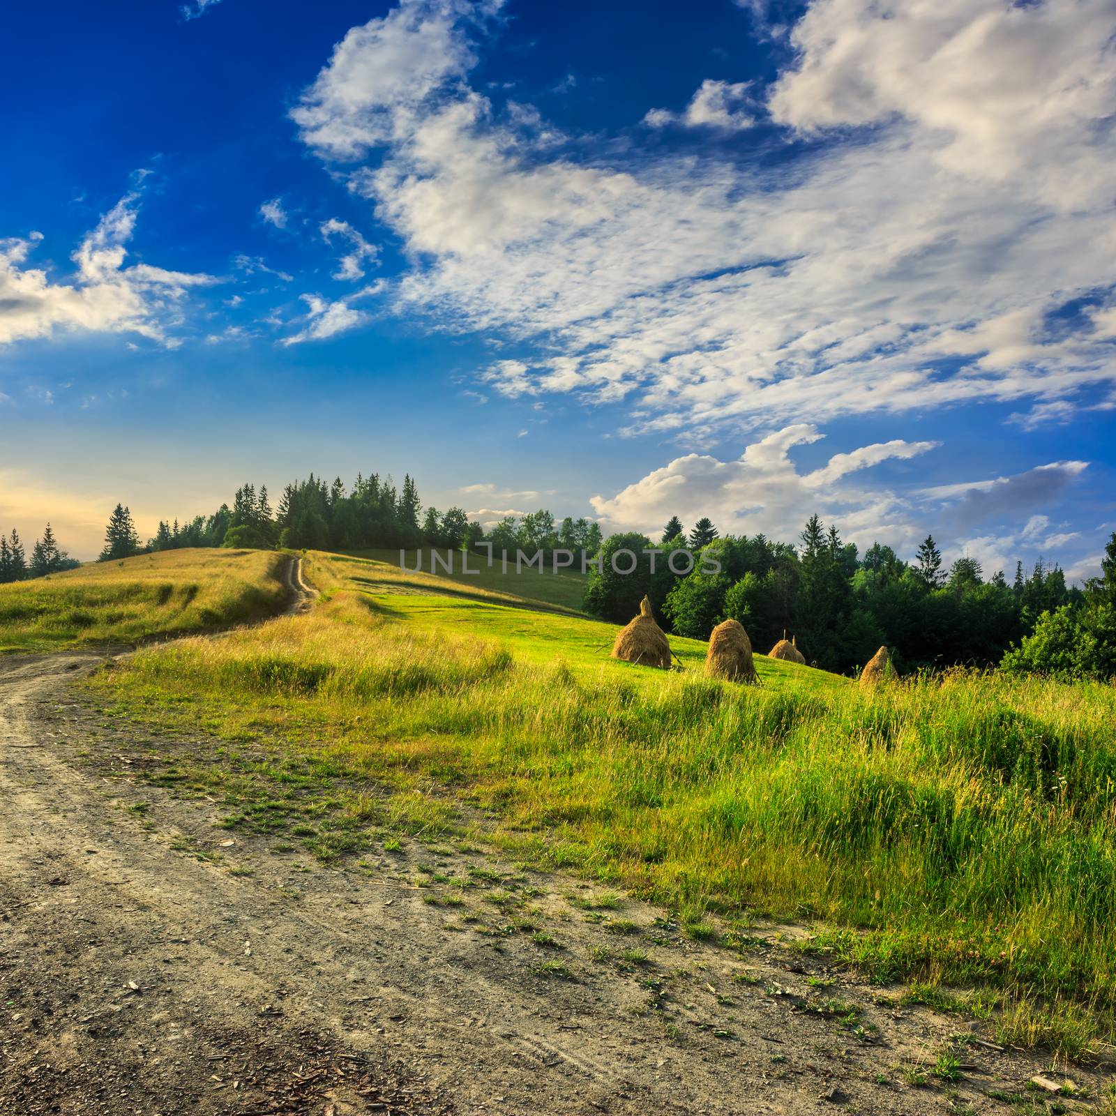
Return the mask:
[(1116, 530), (1116, 0), (6, 13), (0, 531), (309, 472), (482, 522)]

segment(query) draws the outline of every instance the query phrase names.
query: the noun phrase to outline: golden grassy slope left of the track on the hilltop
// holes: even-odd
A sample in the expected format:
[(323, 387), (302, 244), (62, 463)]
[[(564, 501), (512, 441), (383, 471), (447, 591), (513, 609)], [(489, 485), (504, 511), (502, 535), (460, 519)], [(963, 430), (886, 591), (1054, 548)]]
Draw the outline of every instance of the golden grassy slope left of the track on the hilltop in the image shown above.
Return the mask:
[(0, 654), (257, 619), (282, 603), (286, 561), (258, 550), (164, 550), (0, 585)]

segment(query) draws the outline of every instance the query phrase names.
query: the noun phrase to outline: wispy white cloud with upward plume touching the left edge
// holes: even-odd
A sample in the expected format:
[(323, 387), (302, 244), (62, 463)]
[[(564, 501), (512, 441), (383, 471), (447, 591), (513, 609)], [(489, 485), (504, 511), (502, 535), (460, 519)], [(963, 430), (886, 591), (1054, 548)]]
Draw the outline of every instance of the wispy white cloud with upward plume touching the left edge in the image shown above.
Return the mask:
[(59, 330), (132, 333), (177, 344), (166, 329), (180, 320), (179, 304), (191, 288), (219, 280), (147, 263), (125, 267), (137, 202), (128, 194), (102, 217), (75, 250), (77, 269), (65, 281), (25, 266), (39, 233), (0, 241), (0, 345)]

